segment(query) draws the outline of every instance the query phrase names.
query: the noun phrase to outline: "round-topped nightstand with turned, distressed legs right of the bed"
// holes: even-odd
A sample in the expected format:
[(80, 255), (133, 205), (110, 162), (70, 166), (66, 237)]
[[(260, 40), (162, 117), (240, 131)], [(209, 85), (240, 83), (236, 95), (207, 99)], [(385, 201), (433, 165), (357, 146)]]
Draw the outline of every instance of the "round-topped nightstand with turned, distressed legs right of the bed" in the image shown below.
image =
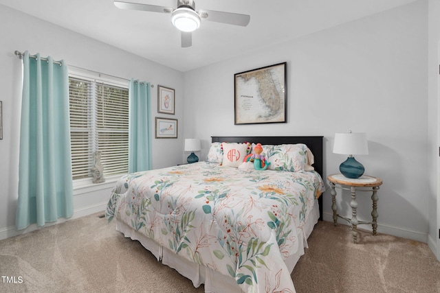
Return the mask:
[[(359, 224), (371, 224), (373, 227), (373, 235), (377, 233), (377, 200), (379, 197), (377, 196), (377, 190), (379, 190), (379, 186), (382, 185), (382, 179), (362, 175), (360, 178), (352, 179), (347, 178), (342, 174), (333, 174), (327, 176), (327, 180), (330, 183), (330, 194), (331, 194), (331, 209), (333, 210), (333, 223), (338, 223), (338, 217), (344, 220), (347, 220), (351, 224), (351, 233), (353, 234), (353, 242), (358, 242), (358, 225)], [(351, 218), (343, 217), (342, 215), (338, 215), (338, 211), (336, 208), (336, 187), (351, 191)], [(358, 202), (356, 202), (356, 191), (371, 191), (373, 195), (371, 196), (371, 200), (373, 200), (373, 211), (371, 212), (371, 216), (373, 217), (372, 222), (359, 221), (356, 216), (356, 209), (358, 209)]]

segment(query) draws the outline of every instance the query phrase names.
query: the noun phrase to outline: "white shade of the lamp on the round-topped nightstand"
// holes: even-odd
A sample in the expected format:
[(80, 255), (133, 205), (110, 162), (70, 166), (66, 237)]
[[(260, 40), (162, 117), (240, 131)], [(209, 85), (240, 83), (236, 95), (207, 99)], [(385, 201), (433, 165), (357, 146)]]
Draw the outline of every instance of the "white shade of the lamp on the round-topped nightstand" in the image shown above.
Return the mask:
[(369, 145), (366, 141), (366, 133), (336, 133), (335, 141), (333, 143), (333, 153), (369, 154)]

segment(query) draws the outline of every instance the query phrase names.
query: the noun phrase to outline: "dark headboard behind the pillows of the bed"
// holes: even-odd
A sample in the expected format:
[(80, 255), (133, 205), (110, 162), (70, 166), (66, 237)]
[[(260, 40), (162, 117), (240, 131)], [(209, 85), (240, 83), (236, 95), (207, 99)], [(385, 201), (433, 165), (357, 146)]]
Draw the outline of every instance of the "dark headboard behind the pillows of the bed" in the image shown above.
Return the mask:
[[(323, 137), (211, 137), (212, 142), (223, 142), (228, 141), (230, 143), (241, 143), (247, 141), (249, 143), (261, 143), (262, 145), (281, 145), (281, 144), (293, 144), (293, 143), (304, 143), (309, 147), (311, 152), (314, 154), (315, 163), (314, 167), (316, 172), (318, 172), (322, 179), (324, 179), (323, 174)], [(318, 198), (319, 202), (319, 212), (320, 220), (322, 220), (322, 196)]]

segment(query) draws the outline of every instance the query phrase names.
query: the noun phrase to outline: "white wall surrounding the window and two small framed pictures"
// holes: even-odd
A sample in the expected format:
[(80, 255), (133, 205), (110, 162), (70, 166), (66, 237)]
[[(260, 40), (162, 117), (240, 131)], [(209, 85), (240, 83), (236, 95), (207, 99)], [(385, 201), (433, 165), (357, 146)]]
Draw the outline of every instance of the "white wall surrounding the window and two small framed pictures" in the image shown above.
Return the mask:
[[(100, 43), (62, 27), (41, 21), (27, 14), (0, 5), (0, 88), (3, 101), (3, 140), (0, 141), (0, 239), (15, 235), (14, 222), (18, 194), (19, 122), (21, 99), (21, 60), (15, 50), (30, 54), (64, 59), (68, 65), (151, 82), (151, 101), (154, 117), (157, 115), (157, 84), (175, 89), (176, 115), (159, 115), (183, 121), (183, 74), (133, 54)], [(135, 38), (143, 36), (133, 36)], [(182, 128), (178, 139), (154, 139), (153, 167), (181, 163)], [(74, 217), (93, 211), (103, 211), (112, 184), (76, 190)], [(32, 228), (32, 227), (31, 227)]]

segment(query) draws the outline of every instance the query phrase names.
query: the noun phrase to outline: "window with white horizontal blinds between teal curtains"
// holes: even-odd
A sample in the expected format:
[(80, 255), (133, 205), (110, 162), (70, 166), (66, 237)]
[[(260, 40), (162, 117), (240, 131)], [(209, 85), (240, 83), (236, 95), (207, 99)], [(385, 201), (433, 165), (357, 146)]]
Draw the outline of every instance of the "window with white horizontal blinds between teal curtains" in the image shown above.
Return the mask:
[(105, 176), (129, 170), (128, 82), (69, 74), (73, 179), (91, 179), (94, 152)]

